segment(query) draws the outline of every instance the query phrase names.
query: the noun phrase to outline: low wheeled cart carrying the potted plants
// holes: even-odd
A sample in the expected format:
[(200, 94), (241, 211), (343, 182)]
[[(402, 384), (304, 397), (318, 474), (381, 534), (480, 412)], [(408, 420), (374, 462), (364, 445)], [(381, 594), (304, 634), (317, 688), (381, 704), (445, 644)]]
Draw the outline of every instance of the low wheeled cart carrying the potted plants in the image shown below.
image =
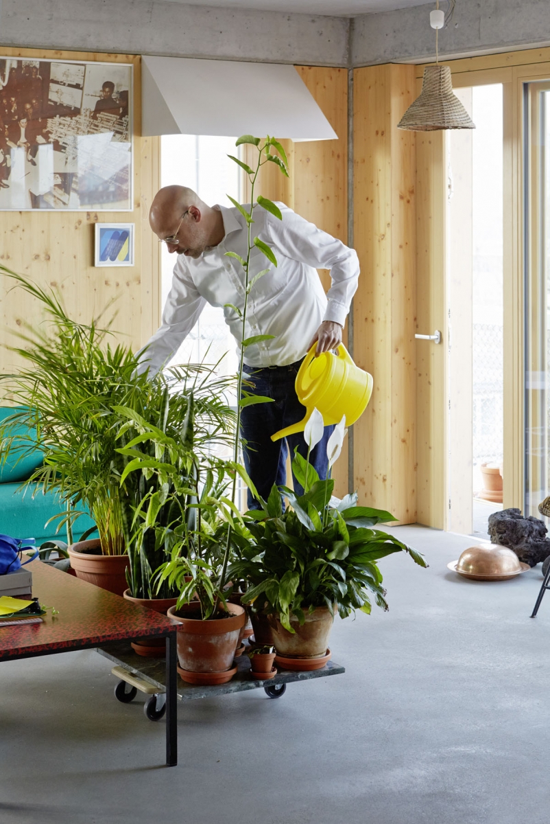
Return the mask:
[[(109, 658), (116, 666), (111, 672), (119, 681), (114, 688), (117, 700), (128, 704), (137, 695), (137, 691), (148, 695), (144, 712), (151, 721), (159, 721), (165, 714), (165, 664), (162, 658), (143, 658), (134, 653), (128, 643), (115, 642), (104, 644), (98, 653)], [(215, 695), (256, 690), (263, 687), (269, 698), (280, 698), (292, 681), (310, 681), (312, 678), (324, 678), (329, 675), (341, 675), (344, 667), (329, 661), (322, 669), (310, 672), (294, 672), (277, 667), (277, 675), (269, 681), (254, 681), (250, 678), (250, 662), (247, 655), (235, 658), (237, 672), (226, 684), (214, 686), (195, 686), (186, 684), (178, 677), (177, 695), (180, 701), (192, 701), (198, 698), (212, 698)]]

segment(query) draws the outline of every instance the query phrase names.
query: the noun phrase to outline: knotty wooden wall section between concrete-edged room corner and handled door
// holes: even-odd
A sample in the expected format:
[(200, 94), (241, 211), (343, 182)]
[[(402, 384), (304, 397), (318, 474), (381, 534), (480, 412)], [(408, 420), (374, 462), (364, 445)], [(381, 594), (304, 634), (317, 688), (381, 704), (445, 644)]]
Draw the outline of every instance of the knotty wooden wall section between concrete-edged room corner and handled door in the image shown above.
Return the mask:
[(354, 358), (374, 391), (355, 425), (362, 503), (416, 521), (415, 137), (397, 129), (413, 101), (415, 68), (354, 72), (354, 239), (361, 279)]

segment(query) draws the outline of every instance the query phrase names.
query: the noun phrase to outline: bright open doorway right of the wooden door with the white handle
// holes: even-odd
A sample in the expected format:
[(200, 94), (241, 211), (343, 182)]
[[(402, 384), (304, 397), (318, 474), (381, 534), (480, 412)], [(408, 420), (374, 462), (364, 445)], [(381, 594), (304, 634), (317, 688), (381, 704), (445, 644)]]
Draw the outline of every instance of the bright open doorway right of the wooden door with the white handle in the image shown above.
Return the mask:
[(447, 140), (447, 528), (487, 537), (502, 508), (502, 84), (456, 89), (476, 129)]

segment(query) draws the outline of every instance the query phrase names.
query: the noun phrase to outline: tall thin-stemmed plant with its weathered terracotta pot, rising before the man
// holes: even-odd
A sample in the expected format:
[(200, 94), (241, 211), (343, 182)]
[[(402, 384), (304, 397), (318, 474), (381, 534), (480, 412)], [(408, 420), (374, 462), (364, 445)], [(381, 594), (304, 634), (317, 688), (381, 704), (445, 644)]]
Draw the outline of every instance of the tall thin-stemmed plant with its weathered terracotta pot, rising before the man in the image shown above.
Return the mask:
[[(223, 470), (226, 471), (231, 480), (231, 494), (219, 499), (212, 499), (212, 495), (207, 496), (211, 499), (211, 505), (213, 500), (214, 509), (219, 518), (213, 534), (210, 533), (205, 528), (205, 522), (202, 518), (199, 522), (201, 513), (203, 513), (205, 506), (207, 507), (208, 501), (205, 499), (200, 485), (201, 468), (196, 467), (198, 499), (196, 528), (194, 530), (189, 529), (182, 535), (181, 541), (173, 549), (170, 561), (162, 566), (158, 578), (159, 583), (168, 581), (170, 585), (179, 588), (178, 602), (176, 606), (170, 607), (168, 615), (179, 624), (179, 674), (184, 680), (193, 683), (221, 683), (230, 680), (236, 672), (236, 667), (232, 667), (232, 662), (237, 644), (240, 643), (241, 630), (245, 625), (246, 616), (243, 606), (239, 603), (231, 603), (231, 600), (235, 599), (231, 599), (231, 592), (226, 591), (227, 569), (232, 553), (243, 550), (245, 546), (249, 545), (249, 532), (235, 503), (238, 475), (245, 480), (245, 484), (257, 496), (254, 485), (239, 462), (240, 411), (246, 405), (267, 403), (271, 400), (267, 397), (249, 393), (243, 379), (246, 347), (273, 338), (273, 335), (254, 335), (245, 338), (249, 293), (254, 288), (254, 283), (268, 272), (268, 269), (254, 273), (251, 271), (251, 251), (254, 247), (259, 249), (267, 260), (277, 265), (277, 259), (271, 248), (259, 237), (253, 238), (252, 236), (254, 208), (260, 206), (277, 218), (282, 219), (279, 208), (270, 200), (259, 196), (257, 204), (254, 204), (254, 185), (260, 167), (268, 162), (275, 163), (282, 173), (288, 176), (287, 157), (281, 144), (274, 138), (268, 137), (262, 143), (260, 138), (247, 134), (238, 138), (235, 145), (240, 146), (243, 143), (255, 146), (258, 149), (258, 159), (255, 169), (252, 169), (238, 158), (230, 156), (245, 170), (251, 184), (250, 211), (230, 198), (245, 218), (248, 226), (247, 255), (244, 258), (232, 251), (226, 253), (240, 263), (245, 276), (243, 307), (240, 309), (231, 305), (231, 309), (236, 311), (240, 317), (242, 329), (240, 361), (236, 376), (238, 403), (232, 443), (232, 460), (226, 460), (223, 465)], [(272, 152), (277, 152), (277, 154)], [(228, 304), (228, 306), (230, 305)], [(193, 603), (193, 596), (199, 602), (198, 607), (196, 603)]]

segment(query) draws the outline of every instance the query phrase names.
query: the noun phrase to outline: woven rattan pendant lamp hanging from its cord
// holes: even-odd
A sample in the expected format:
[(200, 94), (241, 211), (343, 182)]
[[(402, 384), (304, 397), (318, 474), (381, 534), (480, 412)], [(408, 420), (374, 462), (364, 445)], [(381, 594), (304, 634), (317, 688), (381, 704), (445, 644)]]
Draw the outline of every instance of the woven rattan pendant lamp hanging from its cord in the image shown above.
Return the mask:
[(475, 129), (464, 105), (453, 92), (450, 67), (439, 63), (438, 30), (445, 24), (445, 15), (437, 8), (430, 12), (430, 25), (436, 30), (436, 65), (424, 68), (422, 91), (399, 121), (399, 129), (413, 132), (435, 132), (440, 129)]

